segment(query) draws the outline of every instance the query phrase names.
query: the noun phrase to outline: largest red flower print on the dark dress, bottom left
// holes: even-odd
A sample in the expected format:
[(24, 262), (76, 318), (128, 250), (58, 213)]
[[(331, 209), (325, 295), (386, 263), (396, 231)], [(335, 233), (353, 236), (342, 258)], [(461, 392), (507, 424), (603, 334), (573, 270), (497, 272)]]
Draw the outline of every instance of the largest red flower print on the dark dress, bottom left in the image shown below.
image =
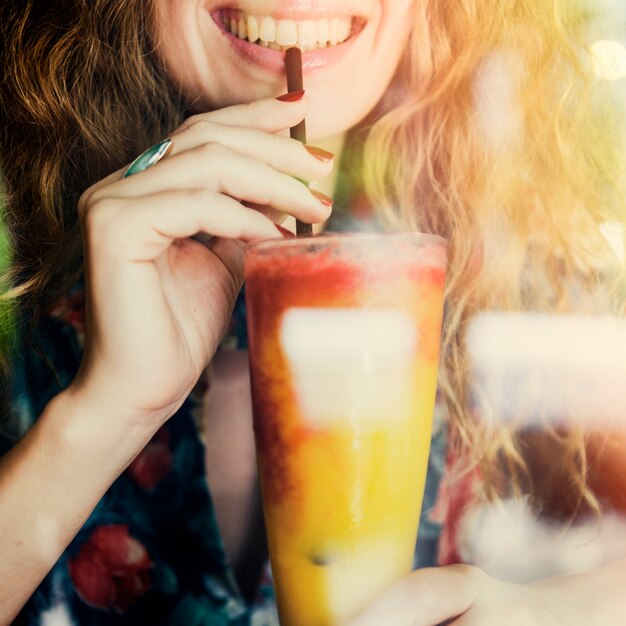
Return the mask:
[(123, 613), (150, 588), (152, 560), (125, 524), (98, 526), (68, 567), (78, 595), (98, 609)]

